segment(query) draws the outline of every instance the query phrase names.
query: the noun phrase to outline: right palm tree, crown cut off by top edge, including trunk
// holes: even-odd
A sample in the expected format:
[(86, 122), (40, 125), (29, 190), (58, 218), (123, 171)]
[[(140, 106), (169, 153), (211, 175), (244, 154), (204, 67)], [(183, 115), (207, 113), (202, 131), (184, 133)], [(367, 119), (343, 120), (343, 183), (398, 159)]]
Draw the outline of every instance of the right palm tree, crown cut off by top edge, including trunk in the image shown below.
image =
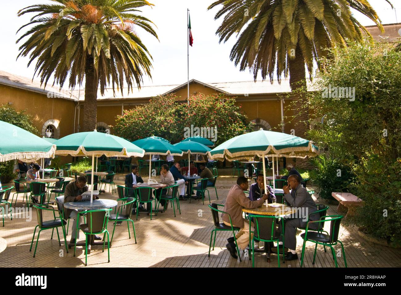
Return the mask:
[[(348, 40), (360, 42), (363, 32), (372, 38), (350, 8), (365, 14), (384, 31), (367, 0), (217, 0), (208, 9), (219, 5), (223, 7), (215, 20), (224, 18), (216, 34), (219, 42), (226, 42), (234, 33), (239, 35), (230, 59), (240, 71), (249, 68), (255, 80), (259, 71), (263, 80), (268, 76), (273, 81), (275, 73), (279, 81), (290, 75), (294, 109), (299, 112), (294, 129), (300, 137), (309, 129), (308, 107), (300, 91), (306, 89), (305, 65), (312, 77), (314, 62), (322, 68), (320, 58), (327, 56), (326, 48), (344, 47)], [(306, 160), (298, 159), (297, 163), (308, 167)]]

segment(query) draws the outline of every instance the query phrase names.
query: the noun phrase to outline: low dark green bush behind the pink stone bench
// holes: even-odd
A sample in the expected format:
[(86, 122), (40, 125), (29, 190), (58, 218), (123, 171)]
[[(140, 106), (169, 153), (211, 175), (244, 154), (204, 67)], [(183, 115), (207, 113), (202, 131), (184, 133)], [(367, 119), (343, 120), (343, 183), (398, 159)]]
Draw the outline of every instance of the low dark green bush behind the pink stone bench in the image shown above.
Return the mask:
[(316, 170), (311, 171), (311, 179), (316, 185), (316, 193), (322, 199), (334, 199), (331, 195), (333, 191), (348, 192), (352, 182), (353, 174), (349, 167), (338, 163), (336, 159), (319, 155), (312, 158), (311, 162)]

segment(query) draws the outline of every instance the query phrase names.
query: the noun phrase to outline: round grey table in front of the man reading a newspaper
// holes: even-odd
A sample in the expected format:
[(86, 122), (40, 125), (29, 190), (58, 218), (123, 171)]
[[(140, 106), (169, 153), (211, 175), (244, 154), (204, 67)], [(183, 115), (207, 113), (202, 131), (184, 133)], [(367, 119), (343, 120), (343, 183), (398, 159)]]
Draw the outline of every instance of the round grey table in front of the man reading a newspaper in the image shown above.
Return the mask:
[[(64, 203), (64, 208), (73, 210), (97, 210), (97, 209), (107, 209), (117, 206), (117, 201), (109, 199), (98, 199), (91, 201), (82, 202), (66, 202)], [(88, 254), (91, 252), (91, 245), (102, 245), (103, 242), (95, 242), (95, 236), (89, 235), (88, 237)], [(75, 244), (69, 243), (68, 248), (74, 247)], [(85, 246), (85, 242), (77, 242), (77, 246)]]

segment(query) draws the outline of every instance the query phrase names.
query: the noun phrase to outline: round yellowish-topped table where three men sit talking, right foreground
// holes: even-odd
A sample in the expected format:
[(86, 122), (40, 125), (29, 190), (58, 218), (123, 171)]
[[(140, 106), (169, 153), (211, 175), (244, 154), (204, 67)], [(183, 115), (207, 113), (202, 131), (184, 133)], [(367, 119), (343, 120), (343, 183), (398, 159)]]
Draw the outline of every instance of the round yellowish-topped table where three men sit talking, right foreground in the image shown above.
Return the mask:
[[(284, 204), (274, 204), (274, 205), (279, 205), (278, 207), (273, 207), (273, 204), (268, 204), (267, 207), (266, 205), (261, 205), (260, 207), (253, 208), (253, 209), (247, 209), (243, 208), (243, 212), (247, 212), (250, 214), (256, 214), (256, 215), (268, 215), (268, 216), (275, 216), (275, 218), (282, 218), (284, 216), (288, 216), (291, 214), (294, 214), (297, 210), (295, 208), (289, 207)], [(249, 224), (251, 223), (251, 216), (249, 216)], [(259, 249), (254, 249), (255, 252), (265, 252), (267, 253), (267, 262), (270, 262), (270, 248), (272, 246), (272, 242), (265, 242), (265, 249), (264, 250), (259, 250)], [(247, 248), (249, 250), (249, 248)], [(284, 261), (285, 263), (285, 261)]]

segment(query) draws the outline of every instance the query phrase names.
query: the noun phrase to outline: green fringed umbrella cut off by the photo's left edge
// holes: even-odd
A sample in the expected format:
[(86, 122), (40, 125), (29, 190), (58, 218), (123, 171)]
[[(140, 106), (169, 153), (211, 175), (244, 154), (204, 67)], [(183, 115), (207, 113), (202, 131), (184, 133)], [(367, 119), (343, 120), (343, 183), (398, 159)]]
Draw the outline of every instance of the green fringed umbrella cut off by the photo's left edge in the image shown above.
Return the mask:
[(53, 158), (56, 146), (20, 127), (0, 121), (0, 162)]

